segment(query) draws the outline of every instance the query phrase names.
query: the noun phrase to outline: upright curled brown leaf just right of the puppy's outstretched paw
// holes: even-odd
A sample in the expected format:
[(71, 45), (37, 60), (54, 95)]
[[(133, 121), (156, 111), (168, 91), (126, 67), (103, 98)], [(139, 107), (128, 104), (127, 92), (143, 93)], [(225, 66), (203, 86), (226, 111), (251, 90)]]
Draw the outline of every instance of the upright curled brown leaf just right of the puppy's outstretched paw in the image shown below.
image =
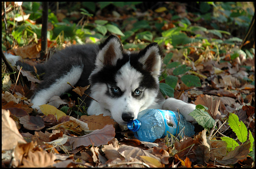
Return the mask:
[(221, 99), (217, 96), (200, 94), (195, 101), (195, 105), (200, 104), (205, 107), (208, 107), (209, 108), (207, 110), (208, 114), (212, 116), (213, 119), (216, 119), (216, 118), (220, 119), (221, 112), (218, 111), (220, 100)]

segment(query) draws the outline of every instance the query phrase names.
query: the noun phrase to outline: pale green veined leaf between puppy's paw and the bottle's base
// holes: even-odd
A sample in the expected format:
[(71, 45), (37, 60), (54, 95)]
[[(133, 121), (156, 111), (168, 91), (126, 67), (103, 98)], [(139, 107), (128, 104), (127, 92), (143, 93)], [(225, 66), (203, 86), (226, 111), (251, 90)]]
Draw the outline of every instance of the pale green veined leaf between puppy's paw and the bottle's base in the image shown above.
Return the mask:
[(195, 109), (188, 115), (194, 117), (197, 123), (205, 129), (212, 128), (215, 124), (215, 120), (207, 112), (204, 112), (201, 109)]

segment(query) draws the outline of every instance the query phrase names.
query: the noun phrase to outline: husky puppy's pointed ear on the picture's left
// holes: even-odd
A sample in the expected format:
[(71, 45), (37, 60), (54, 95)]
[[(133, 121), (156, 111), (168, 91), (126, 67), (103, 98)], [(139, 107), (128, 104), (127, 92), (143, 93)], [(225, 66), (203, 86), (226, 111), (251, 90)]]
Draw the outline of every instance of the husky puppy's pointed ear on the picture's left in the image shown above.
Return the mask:
[(123, 47), (120, 39), (115, 36), (109, 36), (103, 43), (100, 44), (100, 50), (96, 57), (96, 67), (116, 65), (118, 59), (123, 58)]

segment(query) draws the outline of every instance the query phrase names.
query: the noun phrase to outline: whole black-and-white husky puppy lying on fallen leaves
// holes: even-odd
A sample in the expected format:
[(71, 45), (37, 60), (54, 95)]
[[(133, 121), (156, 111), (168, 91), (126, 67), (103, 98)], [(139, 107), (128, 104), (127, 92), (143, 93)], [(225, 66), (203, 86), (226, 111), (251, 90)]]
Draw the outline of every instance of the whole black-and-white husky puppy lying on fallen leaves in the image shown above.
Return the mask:
[[(188, 114), (195, 105), (174, 98), (165, 99), (159, 91), (161, 50), (151, 43), (139, 52), (125, 51), (117, 36), (111, 35), (100, 45), (74, 45), (54, 54), (44, 64), (35, 67), (38, 74), (45, 72), (43, 81), (31, 98), (32, 108), (46, 104), (54, 95), (72, 86), (91, 84), (86, 94), (87, 113), (109, 115), (121, 125), (136, 119), (140, 111), (153, 108), (180, 110), (186, 120), (195, 122)], [(15, 61), (14, 61), (15, 62)], [(20, 61), (25, 70), (33, 67)], [(85, 95), (81, 98), (85, 98)]]

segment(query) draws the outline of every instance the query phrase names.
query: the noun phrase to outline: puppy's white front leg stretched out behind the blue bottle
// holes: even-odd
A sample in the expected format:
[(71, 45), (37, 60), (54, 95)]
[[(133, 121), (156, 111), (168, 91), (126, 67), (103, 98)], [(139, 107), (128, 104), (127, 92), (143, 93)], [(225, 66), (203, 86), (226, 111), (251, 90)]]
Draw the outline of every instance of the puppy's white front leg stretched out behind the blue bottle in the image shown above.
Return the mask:
[(188, 115), (190, 112), (196, 109), (196, 105), (188, 104), (182, 100), (177, 100), (175, 98), (166, 99), (163, 104), (163, 110), (177, 111), (177, 109), (179, 109), (179, 112), (184, 116), (187, 121), (197, 123), (192, 116)]

